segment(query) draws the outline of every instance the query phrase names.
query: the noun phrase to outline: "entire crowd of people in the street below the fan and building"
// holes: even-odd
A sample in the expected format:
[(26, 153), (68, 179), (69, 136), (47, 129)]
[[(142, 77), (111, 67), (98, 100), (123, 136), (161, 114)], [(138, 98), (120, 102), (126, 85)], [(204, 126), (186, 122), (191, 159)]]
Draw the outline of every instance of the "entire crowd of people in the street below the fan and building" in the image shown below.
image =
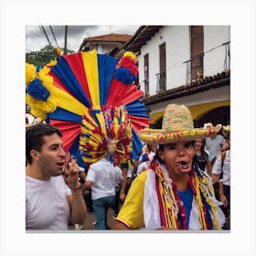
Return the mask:
[(87, 212), (98, 230), (230, 229), (230, 126), (196, 128), (186, 106), (169, 104), (162, 129), (139, 135), (139, 158), (114, 166), (105, 155), (81, 169), (59, 129), (27, 129), (26, 229), (82, 229)]

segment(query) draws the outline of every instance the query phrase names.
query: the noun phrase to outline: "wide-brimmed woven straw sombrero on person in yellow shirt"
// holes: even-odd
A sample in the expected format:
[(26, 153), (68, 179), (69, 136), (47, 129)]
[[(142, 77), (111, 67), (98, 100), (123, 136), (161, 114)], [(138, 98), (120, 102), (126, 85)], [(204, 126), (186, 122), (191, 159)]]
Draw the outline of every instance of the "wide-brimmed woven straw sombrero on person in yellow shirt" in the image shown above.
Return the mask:
[(222, 125), (194, 128), (191, 112), (185, 105), (169, 104), (165, 109), (162, 129), (145, 128), (139, 132), (144, 143), (167, 144), (192, 141), (219, 133)]

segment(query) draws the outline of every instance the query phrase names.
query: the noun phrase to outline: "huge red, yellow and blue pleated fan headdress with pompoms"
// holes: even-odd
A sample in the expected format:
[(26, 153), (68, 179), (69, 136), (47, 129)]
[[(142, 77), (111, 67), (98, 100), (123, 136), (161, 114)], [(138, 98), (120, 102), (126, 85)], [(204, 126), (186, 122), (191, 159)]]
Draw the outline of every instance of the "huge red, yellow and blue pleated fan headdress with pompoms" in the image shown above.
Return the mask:
[(132, 52), (119, 61), (96, 50), (78, 52), (27, 69), (31, 113), (59, 128), (66, 151), (84, 163), (111, 154), (114, 165), (140, 155), (137, 132), (150, 119), (140, 100), (144, 92), (133, 84), (138, 69)]

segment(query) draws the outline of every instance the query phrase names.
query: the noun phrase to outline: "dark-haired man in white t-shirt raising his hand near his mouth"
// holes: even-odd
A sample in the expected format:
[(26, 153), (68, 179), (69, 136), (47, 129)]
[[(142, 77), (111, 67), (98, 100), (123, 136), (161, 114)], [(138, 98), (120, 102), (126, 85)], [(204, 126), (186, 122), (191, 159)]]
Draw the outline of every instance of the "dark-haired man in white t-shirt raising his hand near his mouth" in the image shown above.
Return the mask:
[(69, 218), (84, 223), (79, 166), (75, 160), (69, 163), (61, 137), (50, 124), (39, 123), (27, 130), (26, 229), (68, 229)]

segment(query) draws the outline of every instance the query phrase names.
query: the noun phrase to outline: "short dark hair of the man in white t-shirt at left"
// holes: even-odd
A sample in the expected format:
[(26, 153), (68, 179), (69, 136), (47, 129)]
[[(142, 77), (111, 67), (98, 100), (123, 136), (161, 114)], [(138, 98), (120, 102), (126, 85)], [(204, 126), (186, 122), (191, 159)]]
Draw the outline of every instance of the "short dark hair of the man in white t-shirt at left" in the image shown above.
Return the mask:
[(58, 128), (53, 127), (50, 124), (46, 123), (38, 123), (33, 127), (30, 127), (26, 132), (26, 158), (27, 163), (32, 163), (32, 158), (30, 155), (30, 151), (32, 149), (41, 151), (42, 145), (45, 143), (44, 136), (51, 135), (53, 133), (57, 133), (59, 137), (62, 137), (62, 133)]

